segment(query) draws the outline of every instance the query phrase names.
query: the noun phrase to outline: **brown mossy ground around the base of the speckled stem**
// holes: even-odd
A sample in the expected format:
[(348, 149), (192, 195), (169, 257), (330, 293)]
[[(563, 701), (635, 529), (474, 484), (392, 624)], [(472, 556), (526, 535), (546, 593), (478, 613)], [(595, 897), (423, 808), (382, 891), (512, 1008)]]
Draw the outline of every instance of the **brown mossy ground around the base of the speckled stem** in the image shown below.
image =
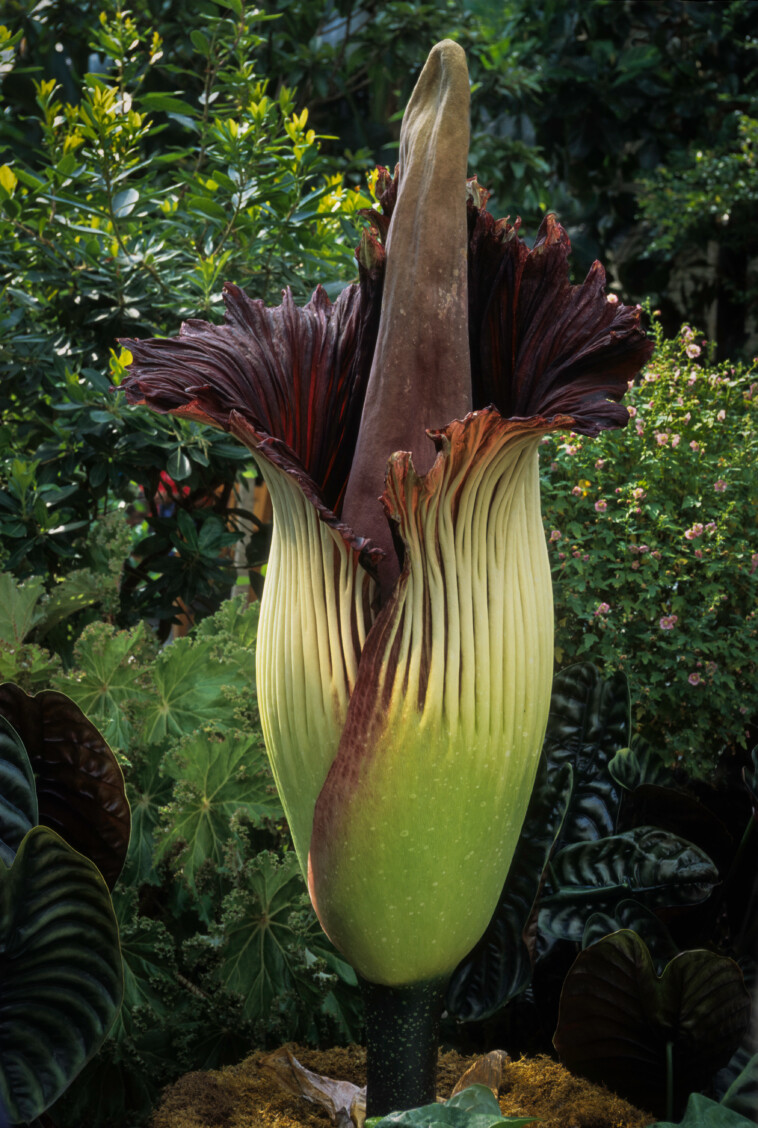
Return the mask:
[[(314, 1073), (365, 1084), (365, 1050), (360, 1046), (290, 1049)], [(252, 1054), (240, 1065), (179, 1078), (165, 1091), (151, 1128), (329, 1128), (326, 1111), (289, 1095), (262, 1073), (264, 1057)], [(440, 1055), (438, 1095), (449, 1098), (474, 1060)], [(503, 1116), (539, 1117), (536, 1128), (646, 1128), (655, 1119), (546, 1056), (509, 1063), (499, 1100)]]

